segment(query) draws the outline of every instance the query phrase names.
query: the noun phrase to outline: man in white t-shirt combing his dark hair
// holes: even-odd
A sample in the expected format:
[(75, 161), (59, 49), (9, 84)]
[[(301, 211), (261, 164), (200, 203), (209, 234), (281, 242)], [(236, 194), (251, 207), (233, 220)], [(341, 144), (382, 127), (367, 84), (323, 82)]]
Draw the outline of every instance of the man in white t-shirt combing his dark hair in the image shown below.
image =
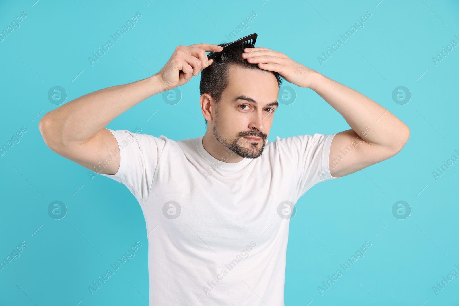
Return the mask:
[[(53, 151), (125, 184), (139, 201), (151, 305), (284, 305), (288, 226), (299, 197), (394, 156), (409, 138), (382, 106), (282, 53), (237, 47), (207, 61), (206, 51), (222, 45), (178, 46), (150, 78), (79, 97), (39, 123)], [(200, 71), (204, 136), (175, 141), (104, 128)], [(268, 142), (280, 76), (313, 89), (351, 129)]]

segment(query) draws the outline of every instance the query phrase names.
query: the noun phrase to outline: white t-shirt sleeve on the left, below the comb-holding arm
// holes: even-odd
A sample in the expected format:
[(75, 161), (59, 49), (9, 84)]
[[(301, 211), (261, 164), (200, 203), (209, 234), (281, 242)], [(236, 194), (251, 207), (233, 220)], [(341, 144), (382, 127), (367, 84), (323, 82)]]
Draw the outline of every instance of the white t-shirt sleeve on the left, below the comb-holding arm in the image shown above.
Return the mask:
[(119, 151), (112, 151), (112, 155), (120, 154), (121, 161), (115, 174), (99, 174), (126, 185), (135, 198), (144, 204), (150, 194), (153, 176), (167, 138), (128, 130), (108, 130), (115, 136), (119, 147)]

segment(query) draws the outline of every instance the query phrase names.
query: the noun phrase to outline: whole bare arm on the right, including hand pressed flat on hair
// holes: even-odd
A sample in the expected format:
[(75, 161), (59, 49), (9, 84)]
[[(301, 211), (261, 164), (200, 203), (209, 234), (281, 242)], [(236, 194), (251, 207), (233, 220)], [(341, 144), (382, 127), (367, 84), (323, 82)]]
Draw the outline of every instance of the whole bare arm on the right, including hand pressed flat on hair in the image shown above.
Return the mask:
[(332, 176), (342, 177), (384, 161), (396, 155), (408, 141), (409, 128), (368, 97), (280, 52), (263, 47), (248, 48), (245, 52), (242, 57), (248, 62), (279, 72), (282, 78), (299, 87), (313, 89), (349, 124), (351, 129), (337, 133), (331, 142)]

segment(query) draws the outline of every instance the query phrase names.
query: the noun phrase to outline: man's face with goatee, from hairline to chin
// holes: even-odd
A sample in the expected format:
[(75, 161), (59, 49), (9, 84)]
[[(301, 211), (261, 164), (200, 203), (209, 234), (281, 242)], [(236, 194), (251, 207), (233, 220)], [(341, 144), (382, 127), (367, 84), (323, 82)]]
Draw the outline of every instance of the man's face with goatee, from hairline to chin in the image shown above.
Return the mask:
[(229, 67), (229, 84), (221, 100), (213, 102), (215, 138), (244, 158), (262, 155), (273, 123), (279, 88), (272, 72)]

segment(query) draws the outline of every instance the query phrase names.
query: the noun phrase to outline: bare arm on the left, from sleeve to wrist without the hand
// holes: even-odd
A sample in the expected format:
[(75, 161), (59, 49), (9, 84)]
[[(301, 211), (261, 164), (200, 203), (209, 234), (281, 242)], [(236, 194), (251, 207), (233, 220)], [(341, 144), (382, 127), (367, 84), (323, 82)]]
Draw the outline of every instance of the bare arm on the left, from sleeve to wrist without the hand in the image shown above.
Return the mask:
[(90, 170), (115, 174), (120, 155), (96, 168), (110, 151), (118, 151), (115, 136), (105, 128), (115, 117), (152, 95), (164, 91), (158, 74), (140, 81), (101, 89), (50, 111), (39, 122), (45, 144), (57, 154)]

